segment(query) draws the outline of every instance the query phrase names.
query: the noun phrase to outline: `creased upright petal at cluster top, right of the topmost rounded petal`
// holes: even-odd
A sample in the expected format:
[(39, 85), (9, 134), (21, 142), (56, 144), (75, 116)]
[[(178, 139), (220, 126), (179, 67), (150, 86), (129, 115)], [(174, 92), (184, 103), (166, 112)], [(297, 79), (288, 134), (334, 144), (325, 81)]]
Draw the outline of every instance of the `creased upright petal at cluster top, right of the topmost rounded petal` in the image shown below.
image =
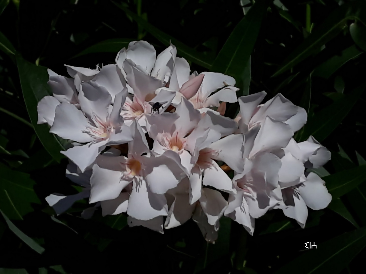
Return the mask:
[(155, 61), (151, 76), (164, 81), (165, 77), (170, 77), (174, 68), (175, 58), (177, 56), (177, 49), (170, 45), (163, 52), (161, 52)]

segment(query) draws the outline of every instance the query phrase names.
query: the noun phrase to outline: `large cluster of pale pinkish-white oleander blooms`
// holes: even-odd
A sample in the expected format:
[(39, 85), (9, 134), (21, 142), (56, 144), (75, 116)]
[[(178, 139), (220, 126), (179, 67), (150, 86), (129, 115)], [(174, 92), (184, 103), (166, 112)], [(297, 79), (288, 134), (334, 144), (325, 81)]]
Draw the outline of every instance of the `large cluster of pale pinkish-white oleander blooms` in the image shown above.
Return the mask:
[[(70, 159), (66, 176), (84, 187), (48, 196), (57, 214), (89, 198), (85, 218), (101, 206), (104, 216), (126, 212), (130, 226), (161, 233), (193, 218), (214, 242), (222, 216), (251, 235), (270, 209), (304, 227), (307, 207), (332, 198), (307, 171), (330, 152), (313, 137), (292, 138), (307, 115), (281, 94), (263, 104), (264, 91), (237, 99), (234, 78), (191, 73), (175, 46), (156, 56), (145, 41), (120, 50), (116, 64), (67, 71), (72, 78), (48, 70), (53, 96), (38, 103), (38, 123), (73, 141), (61, 152)], [(238, 100), (238, 116), (224, 117), (226, 102)]]

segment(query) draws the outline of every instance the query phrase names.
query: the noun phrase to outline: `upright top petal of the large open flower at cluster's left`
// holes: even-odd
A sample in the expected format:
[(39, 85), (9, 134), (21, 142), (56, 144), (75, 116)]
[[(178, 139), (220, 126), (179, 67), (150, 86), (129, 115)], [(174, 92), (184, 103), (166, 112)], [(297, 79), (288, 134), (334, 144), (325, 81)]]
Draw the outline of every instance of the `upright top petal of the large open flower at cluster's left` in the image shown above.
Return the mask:
[(97, 115), (101, 121), (107, 121), (111, 100), (111, 94), (104, 87), (98, 87), (90, 83), (81, 84), (79, 90), (80, 108), (92, 119)]

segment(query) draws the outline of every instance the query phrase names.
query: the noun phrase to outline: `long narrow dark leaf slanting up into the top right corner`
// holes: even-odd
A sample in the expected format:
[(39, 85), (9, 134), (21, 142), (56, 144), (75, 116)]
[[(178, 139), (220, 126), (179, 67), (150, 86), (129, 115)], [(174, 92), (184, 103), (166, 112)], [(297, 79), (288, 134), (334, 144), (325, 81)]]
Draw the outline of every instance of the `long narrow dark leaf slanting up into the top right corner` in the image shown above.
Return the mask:
[(366, 3), (355, 1), (347, 3), (337, 8), (317, 27), (305, 41), (299, 45), (283, 62), (280, 69), (272, 77), (280, 75), (288, 69), (299, 64), (314, 52), (318, 51), (322, 45), (330, 41), (344, 28), (347, 20), (359, 20), (366, 24)]

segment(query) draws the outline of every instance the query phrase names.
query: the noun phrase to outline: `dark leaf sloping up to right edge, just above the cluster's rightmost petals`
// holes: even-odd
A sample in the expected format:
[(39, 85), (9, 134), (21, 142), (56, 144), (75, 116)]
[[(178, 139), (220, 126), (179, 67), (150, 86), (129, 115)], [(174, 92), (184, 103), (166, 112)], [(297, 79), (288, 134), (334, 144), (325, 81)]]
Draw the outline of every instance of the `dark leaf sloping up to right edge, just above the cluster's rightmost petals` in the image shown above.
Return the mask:
[(366, 83), (363, 83), (355, 88), (350, 94), (347, 94), (344, 100), (338, 100), (316, 113), (314, 117), (306, 123), (300, 141), (306, 140), (310, 135), (319, 142), (323, 141), (333, 132), (333, 130), (335, 130), (343, 118), (346, 117), (348, 112), (360, 98), (365, 87)]

